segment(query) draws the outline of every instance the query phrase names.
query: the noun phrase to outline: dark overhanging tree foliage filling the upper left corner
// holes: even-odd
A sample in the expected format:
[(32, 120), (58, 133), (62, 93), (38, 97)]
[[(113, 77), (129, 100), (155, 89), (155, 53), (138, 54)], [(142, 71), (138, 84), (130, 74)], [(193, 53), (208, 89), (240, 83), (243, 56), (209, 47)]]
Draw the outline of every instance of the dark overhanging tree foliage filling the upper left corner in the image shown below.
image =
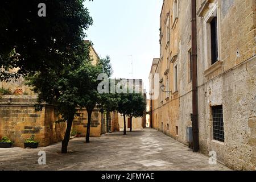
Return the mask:
[(45, 0), (46, 17), (38, 16), (41, 2), (1, 1), (0, 80), (81, 64), (85, 30), (93, 23), (85, 0)]

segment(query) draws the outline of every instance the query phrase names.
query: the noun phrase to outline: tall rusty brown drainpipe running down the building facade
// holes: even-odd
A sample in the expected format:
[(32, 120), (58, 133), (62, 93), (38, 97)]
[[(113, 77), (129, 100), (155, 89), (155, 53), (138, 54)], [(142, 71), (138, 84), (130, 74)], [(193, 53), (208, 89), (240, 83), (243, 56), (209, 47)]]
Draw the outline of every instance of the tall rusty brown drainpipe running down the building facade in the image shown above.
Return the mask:
[(192, 10), (192, 131), (193, 152), (199, 151), (199, 124), (198, 124), (198, 100), (197, 100), (197, 38), (196, 38), (196, 0), (191, 0)]

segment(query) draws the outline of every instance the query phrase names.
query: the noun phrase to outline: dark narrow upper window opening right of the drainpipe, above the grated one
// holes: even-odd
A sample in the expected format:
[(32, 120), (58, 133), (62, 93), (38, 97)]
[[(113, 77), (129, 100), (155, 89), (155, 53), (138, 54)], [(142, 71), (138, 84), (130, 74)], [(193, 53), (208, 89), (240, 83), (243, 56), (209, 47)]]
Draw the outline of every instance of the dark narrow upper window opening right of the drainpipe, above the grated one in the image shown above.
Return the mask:
[(214, 16), (210, 21), (210, 49), (212, 55), (212, 64), (218, 60), (218, 27), (217, 27), (217, 16)]

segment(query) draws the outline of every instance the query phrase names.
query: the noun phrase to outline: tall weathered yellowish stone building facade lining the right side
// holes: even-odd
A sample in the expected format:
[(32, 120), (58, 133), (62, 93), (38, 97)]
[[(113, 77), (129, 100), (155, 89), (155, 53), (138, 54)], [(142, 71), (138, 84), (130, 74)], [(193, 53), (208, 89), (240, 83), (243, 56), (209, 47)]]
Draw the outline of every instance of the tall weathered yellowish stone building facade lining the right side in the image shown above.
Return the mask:
[[(256, 165), (255, 8), (254, 0), (196, 1), (200, 151), (215, 151), (217, 160), (233, 169), (254, 170)], [(192, 126), (191, 14), (191, 1), (164, 1), (162, 51), (150, 76), (158, 73), (160, 82), (159, 97), (150, 106), (152, 127), (187, 145)], [(162, 84), (171, 91), (168, 97)]]

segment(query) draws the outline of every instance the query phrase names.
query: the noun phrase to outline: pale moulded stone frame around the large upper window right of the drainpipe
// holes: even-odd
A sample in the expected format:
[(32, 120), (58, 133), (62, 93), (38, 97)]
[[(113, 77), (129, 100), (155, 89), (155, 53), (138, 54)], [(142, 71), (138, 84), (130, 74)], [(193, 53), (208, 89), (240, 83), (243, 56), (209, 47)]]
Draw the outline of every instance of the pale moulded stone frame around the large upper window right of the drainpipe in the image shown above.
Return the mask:
[[(217, 16), (217, 37), (218, 37), (218, 61), (215, 64), (212, 64), (211, 57), (211, 42), (210, 42), (210, 20), (212, 19), (212, 15), (216, 11)], [(209, 68), (214, 67), (215, 65), (220, 64), (221, 61), (221, 12), (220, 12), (220, 3), (218, 0), (209, 3), (208, 11), (203, 15), (203, 31), (204, 31), (204, 56), (205, 56), (205, 71)], [(214, 66), (213, 66), (214, 65)]]

